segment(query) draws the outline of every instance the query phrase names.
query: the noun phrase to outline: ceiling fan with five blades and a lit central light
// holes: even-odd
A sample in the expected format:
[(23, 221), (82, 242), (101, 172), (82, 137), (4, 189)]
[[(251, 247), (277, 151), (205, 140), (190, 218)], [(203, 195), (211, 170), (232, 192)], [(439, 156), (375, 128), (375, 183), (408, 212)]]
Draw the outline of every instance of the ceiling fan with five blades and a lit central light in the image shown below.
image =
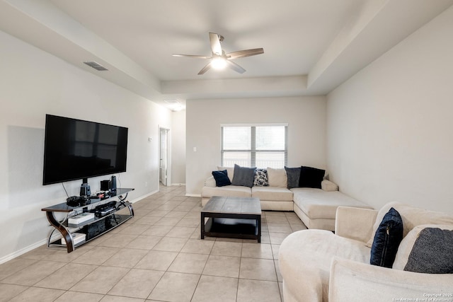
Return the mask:
[(234, 71), (239, 72), (239, 74), (243, 74), (246, 69), (243, 69), (241, 66), (232, 62), (231, 60), (264, 53), (263, 48), (254, 48), (252, 50), (239, 50), (237, 52), (230, 52), (229, 54), (225, 54), (225, 51), (222, 50), (222, 45), (220, 45), (223, 40), (224, 37), (222, 35), (219, 35), (217, 33), (210, 33), (212, 56), (202, 56), (196, 54), (173, 54), (173, 56), (210, 59), (210, 62), (200, 70), (200, 72), (198, 73), (199, 75), (205, 74), (205, 72), (211, 69), (211, 67), (214, 69), (222, 69), (225, 66), (229, 66)]

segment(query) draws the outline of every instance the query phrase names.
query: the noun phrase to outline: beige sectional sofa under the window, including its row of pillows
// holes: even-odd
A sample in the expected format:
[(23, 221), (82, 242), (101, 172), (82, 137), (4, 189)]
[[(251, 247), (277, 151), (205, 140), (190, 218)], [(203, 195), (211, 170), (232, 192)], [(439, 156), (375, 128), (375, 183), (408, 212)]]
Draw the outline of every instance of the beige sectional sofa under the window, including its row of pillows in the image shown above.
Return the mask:
[[(303, 178), (304, 171), (313, 171), (314, 168), (303, 166), (281, 169), (253, 168), (253, 180), (238, 182), (238, 179), (243, 180), (243, 169), (251, 168), (235, 165), (234, 168), (218, 167), (217, 171), (213, 171), (213, 175), (205, 180), (205, 186), (202, 187), (202, 206), (213, 196), (258, 197), (263, 210), (294, 211), (307, 228), (328, 231), (335, 229), (338, 207), (372, 209), (367, 204), (338, 191), (335, 183), (324, 180), (324, 170), (316, 169), (318, 179), (315, 182), (304, 183), (301, 182), (301, 175)], [(250, 178), (252, 170), (247, 170), (246, 173)], [(218, 175), (222, 175), (224, 182), (219, 181)], [(301, 184), (304, 187), (299, 187)]]

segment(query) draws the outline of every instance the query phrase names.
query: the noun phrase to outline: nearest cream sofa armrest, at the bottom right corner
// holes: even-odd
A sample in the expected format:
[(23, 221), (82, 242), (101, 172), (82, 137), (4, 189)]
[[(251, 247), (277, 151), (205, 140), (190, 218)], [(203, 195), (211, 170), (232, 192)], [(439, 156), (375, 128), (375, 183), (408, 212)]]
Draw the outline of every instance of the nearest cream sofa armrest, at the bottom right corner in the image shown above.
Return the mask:
[(329, 302), (453, 300), (453, 274), (406, 272), (334, 257), (329, 278)]

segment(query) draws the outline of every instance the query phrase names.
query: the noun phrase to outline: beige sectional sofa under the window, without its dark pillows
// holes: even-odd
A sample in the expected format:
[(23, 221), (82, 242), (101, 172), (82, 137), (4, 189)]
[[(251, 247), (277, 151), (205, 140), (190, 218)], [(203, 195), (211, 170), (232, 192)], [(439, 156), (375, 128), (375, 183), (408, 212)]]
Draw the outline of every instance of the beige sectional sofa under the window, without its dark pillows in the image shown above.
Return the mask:
[[(219, 167), (227, 170), (230, 180), (234, 178), (234, 168)], [(272, 179), (273, 178), (273, 179)], [(343, 207), (360, 207), (372, 209), (357, 199), (338, 191), (338, 186), (329, 181), (321, 182), (321, 189), (311, 187), (294, 187), (288, 189), (285, 169), (274, 169), (269, 174), (269, 186), (245, 187), (226, 185), (216, 187), (211, 176), (202, 187), (202, 206), (213, 196), (258, 197), (261, 209), (270, 211), (294, 211), (307, 228), (320, 228), (333, 231), (335, 228), (336, 209)]]

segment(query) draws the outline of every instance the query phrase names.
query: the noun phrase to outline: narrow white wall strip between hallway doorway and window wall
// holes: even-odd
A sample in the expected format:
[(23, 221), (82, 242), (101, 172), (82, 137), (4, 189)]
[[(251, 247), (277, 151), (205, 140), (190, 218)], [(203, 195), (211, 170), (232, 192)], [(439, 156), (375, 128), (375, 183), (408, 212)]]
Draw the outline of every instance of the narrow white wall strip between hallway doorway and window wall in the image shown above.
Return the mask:
[(172, 112), (171, 183), (185, 185), (185, 111)]

